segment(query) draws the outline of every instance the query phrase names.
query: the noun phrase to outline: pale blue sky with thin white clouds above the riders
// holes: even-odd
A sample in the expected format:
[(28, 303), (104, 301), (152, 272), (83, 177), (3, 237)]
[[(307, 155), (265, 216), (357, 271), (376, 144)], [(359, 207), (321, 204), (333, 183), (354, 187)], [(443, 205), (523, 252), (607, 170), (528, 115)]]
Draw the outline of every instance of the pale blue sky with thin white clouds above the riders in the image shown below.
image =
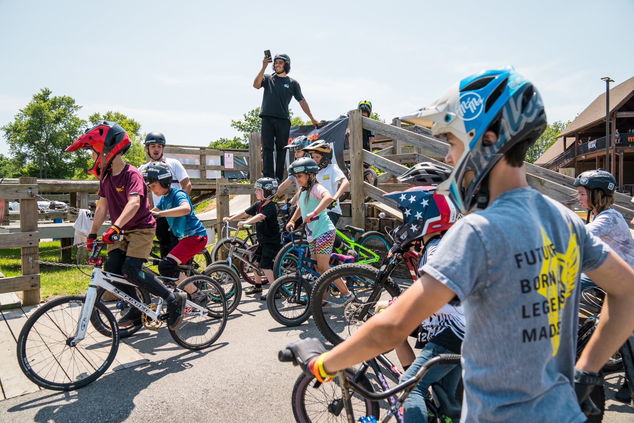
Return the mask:
[(505, 65), (533, 81), (549, 121), (568, 120), (605, 90), (600, 77), (634, 76), (632, 16), (626, 0), (0, 0), (0, 125), (46, 86), (84, 119), (116, 110), (168, 143), (208, 145), (261, 104), (265, 49), (290, 55), (320, 120), (366, 99), (389, 122)]

